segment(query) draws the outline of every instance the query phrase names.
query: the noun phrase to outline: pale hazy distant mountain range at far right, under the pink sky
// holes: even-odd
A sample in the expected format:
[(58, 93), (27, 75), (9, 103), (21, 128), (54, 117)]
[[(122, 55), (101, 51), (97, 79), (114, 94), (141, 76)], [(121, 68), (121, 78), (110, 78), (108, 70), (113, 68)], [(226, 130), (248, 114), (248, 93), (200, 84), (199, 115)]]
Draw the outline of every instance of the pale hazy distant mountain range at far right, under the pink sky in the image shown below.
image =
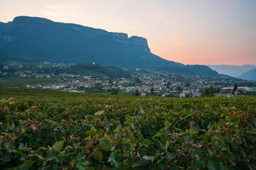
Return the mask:
[(217, 71), (219, 74), (227, 74), (231, 77), (239, 77), (241, 74), (255, 69), (256, 66), (252, 64), (233, 66), (233, 65), (208, 65), (210, 69)]

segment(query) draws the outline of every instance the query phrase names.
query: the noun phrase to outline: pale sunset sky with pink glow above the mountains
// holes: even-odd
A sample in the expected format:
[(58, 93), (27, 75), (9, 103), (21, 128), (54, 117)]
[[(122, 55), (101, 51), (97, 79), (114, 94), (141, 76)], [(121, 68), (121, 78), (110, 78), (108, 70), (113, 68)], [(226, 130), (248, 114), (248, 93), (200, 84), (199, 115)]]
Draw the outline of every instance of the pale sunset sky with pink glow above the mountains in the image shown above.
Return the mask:
[(0, 21), (37, 16), (137, 35), (183, 64), (256, 64), (255, 0), (1, 0)]

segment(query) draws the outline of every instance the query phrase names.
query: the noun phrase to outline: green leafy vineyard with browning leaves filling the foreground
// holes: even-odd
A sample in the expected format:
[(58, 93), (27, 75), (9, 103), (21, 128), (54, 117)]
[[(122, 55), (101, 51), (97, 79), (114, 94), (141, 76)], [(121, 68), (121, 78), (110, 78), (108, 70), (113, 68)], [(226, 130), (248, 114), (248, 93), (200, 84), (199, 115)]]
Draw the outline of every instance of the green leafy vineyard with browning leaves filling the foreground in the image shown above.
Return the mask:
[(0, 96), (0, 169), (256, 169), (255, 97)]

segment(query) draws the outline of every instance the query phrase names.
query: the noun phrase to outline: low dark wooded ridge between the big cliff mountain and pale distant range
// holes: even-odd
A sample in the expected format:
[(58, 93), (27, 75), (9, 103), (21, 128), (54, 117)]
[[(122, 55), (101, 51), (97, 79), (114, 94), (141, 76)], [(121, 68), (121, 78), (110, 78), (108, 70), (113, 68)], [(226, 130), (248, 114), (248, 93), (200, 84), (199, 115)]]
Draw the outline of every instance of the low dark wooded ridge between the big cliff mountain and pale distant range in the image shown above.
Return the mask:
[(193, 75), (206, 76), (206, 77), (228, 77), (224, 74), (218, 74), (218, 72), (213, 71), (213, 69), (210, 69), (208, 66), (205, 66), (205, 65), (184, 65), (181, 67), (161, 67), (157, 70), (161, 72), (193, 74)]

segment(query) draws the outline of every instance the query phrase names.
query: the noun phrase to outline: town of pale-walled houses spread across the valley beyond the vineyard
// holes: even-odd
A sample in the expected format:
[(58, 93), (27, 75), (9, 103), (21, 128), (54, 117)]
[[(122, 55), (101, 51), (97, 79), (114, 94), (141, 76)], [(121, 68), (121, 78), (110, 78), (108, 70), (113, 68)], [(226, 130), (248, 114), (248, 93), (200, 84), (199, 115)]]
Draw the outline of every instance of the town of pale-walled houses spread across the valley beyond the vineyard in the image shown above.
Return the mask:
[[(34, 75), (37, 79), (55, 76), (54, 74), (38, 74)], [(24, 77), (24, 74), (21, 74)], [(136, 94), (137, 96), (166, 96), (166, 97), (200, 97), (204, 89), (213, 87), (216, 89), (215, 96), (243, 96), (246, 92), (255, 91), (253, 86), (239, 86), (233, 93), (234, 83), (232, 79), (215, 79), (208, 80), (203, 78), (191, 78), (183, 74), (173, 77), (152, 76), (149, 74), (140, 74), (139, 77), (132, 78), (109, 78), (104, 77), (84, 77), (73, 74), (59, 74), (58, 83), (55, 84), (23, 84), (24, 88), (31, 89), (55, 89), (62, 91), (71, 91), (78, 93), (85, 92), (111, 92), (117, 89), (127, 94)], [(182, 79), (181, 79), (182, 78)], [(73, 79), (67, 81), (67, 79)], [(230, 84), (230, 86), (225, 86)]]

